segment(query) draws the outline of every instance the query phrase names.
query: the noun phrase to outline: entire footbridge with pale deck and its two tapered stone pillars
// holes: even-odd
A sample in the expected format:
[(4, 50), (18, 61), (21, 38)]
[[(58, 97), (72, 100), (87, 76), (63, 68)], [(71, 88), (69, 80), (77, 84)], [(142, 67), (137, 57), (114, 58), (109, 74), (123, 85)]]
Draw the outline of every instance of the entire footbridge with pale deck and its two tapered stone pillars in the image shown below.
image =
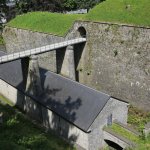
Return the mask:
[(37, 96), (43, 91), (39, 72), (38, 54), (66, 48), (60, 73), (65, 74), (72, 80), (76, 80), (74, 45), (85, 42), (86, 38), (75, 38), (34, 49), (5, 54), (0, 56), (0, 65), (20, 59), (23, 74), (23, 88), (28, 94)]

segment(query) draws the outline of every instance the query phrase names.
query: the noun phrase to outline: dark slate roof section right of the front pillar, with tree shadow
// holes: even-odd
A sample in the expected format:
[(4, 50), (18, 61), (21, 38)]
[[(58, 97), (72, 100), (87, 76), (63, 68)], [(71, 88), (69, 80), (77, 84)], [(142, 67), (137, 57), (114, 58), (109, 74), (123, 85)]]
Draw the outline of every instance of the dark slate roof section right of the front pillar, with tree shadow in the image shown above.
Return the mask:
[(52, 72), (46, 73), (44, 103), (87, 131), (110, 96)]

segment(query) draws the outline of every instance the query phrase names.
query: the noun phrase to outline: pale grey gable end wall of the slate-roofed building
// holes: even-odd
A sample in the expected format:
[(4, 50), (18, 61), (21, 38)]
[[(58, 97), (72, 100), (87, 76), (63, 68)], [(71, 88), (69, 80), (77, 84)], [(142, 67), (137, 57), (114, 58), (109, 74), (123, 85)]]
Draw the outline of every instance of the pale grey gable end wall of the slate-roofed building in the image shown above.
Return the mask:
[(97, 116), (89, 134), (89, 150), (99, 150), (106, 145), (104, 141), (104, 126), (107, 126), (107, 118), (112, 114), (112, 121), (117, 120), (121, 123), (127, 123), (128, 104), (113, 98), (108, 100), (107, 104)]

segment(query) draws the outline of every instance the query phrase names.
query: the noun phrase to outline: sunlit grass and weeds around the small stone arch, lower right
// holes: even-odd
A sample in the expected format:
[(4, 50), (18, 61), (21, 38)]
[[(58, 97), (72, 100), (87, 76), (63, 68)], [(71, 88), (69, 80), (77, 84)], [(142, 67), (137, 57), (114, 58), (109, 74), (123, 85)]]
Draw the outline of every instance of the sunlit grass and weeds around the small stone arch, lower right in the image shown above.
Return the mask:
[(118, 124), (110, 126), (111, 130), (115, 133), (133, 141), (136, 143), (136, 150), (149, 150), (150, 149), (150, 135), (145, 138), (142, 135), (143, 128), (146, 123), (150, 121), (150, 112), (144, 112), (136, 107), (129, 107), (128, 125), (134, 127), (136, 130), (141, 132), (141, 136), (137, 136), (134, 133), (126, 130)]

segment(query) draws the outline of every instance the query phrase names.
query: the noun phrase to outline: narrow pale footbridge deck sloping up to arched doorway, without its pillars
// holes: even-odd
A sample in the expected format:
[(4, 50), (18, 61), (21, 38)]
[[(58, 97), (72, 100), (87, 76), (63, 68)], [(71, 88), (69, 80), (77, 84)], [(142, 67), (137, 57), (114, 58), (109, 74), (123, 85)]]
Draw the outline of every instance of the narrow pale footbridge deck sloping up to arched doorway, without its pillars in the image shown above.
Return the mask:
[(25, 51), (16, 52), (13, 54), (4, 55), (4, 56), (0, 57), (0, 64), (6, 63), (9, 61), (13, 61), (16, 59), (28, 57), (31, 55), (37, 55), (37, 54), (45, 53), (48, 51), (56, 50), (59, 48), (66, 47), (68, 45), (83, 43), (83, 42), (86, 42), (86, 38), (72, 39), (72, 40), (68, 40), (68, 41), (64, 41), (64, 42), (60, 42), (60, 43), (55, 43), (55, 44), (46, 45), (46, 46), (42, 46), (42, 47), (30, 49), (30, 50), (25, 50)]

